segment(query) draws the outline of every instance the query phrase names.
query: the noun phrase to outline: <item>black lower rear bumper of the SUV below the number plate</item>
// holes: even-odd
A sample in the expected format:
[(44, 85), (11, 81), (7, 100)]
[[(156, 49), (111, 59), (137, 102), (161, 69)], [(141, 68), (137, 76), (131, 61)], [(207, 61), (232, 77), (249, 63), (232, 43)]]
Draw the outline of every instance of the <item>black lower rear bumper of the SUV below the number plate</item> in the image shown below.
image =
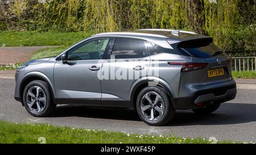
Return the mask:
[(225, 85), (225, 83), (227, 82), (223, 82), (224, 85), (218, 87), (197, 90), (189, 97), (175, 98), (173, 99), (174, 108), (195, 109), (234, 99), (237, 94), (236, 82), (232, 79), (232, 82), (228, 82), (229, 85)]

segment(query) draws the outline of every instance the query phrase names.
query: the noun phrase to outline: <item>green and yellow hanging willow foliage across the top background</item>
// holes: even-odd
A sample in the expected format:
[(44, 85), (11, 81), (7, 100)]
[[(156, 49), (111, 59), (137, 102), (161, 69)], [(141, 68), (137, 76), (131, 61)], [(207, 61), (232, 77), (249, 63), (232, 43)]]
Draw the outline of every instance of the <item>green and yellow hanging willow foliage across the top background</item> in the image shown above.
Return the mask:
[(0, 30), (109, 32), (172, 28), (210, 35), (225, 51), (255, 50), (256, 2), (20, 0), (0, 7)]

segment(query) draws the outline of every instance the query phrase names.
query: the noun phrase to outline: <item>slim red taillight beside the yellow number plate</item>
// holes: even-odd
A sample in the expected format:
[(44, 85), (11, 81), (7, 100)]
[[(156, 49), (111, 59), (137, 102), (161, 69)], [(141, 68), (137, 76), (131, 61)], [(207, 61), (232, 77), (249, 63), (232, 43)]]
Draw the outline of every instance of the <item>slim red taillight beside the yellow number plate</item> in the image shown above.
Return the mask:
[(202, 69), (208, 63), (189, 63), (189, 62), (168, 62), (169, 65), (182, 65), (181, 72), (189, 72), (192, 70)]

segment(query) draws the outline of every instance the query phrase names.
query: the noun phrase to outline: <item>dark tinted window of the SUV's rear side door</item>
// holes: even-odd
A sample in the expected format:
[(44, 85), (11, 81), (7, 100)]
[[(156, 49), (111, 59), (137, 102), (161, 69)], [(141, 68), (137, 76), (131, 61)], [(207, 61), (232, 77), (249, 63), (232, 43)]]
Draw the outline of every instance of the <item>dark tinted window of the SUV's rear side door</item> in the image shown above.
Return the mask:
[(146, 41), (137, 39), (117, 38), (112, 55), (115, 58), (142, 58), (149, 56)]

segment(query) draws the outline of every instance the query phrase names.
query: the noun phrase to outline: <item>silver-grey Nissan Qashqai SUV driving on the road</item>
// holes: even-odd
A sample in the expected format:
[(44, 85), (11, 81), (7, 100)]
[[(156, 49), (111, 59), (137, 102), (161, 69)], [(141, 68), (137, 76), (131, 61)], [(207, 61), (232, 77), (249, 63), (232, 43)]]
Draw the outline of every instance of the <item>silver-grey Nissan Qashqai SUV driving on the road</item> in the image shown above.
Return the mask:
[(211, 37), (189, 31), (100, 33), (20, 66), (15, 99), (33, 116), (52, 114), (56, 104), (122, 107), (164, 125), (176, 109), (209, 114), (234, 99), (231, 62)]

